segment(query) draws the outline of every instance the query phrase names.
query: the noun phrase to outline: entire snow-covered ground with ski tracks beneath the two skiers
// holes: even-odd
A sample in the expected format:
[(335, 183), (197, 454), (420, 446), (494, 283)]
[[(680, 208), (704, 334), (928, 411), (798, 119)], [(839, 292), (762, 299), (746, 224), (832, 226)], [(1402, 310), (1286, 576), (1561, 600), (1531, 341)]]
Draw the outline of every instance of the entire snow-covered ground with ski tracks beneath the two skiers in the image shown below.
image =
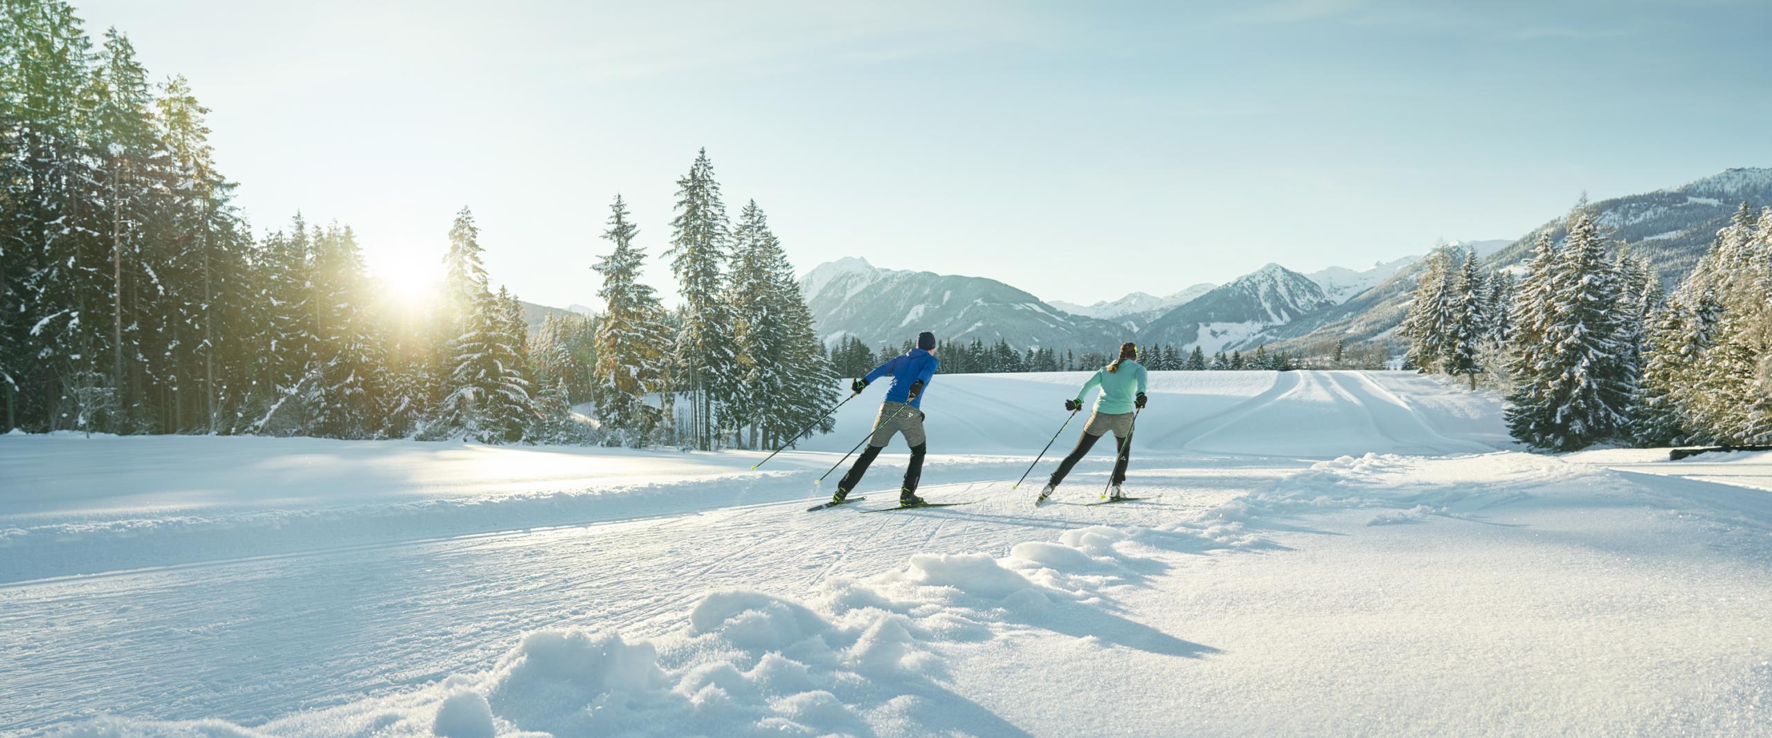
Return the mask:
[[(1772, 734), (1772, 455), (1386, 372), (943, 375), (923, 496), (762, 453), (0, 437), (0, 734)], [(893, 490), (902, 444), (863, 494)], [(833, 474), (835, 480), (835, 474)]]

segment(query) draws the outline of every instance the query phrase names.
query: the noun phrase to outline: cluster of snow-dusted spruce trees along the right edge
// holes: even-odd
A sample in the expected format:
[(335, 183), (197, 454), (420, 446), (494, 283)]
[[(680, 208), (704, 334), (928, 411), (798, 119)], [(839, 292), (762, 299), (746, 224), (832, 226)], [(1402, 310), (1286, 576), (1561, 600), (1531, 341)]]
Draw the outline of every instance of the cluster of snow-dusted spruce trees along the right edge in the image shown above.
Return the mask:
[[(1772, 442), (1772, 209), (1737, 209), (1667, 292), (1577, 207), (1517, 283), (1437, 253), (1403, 333), (1423, 372), (1488, 373), (1535, 448)], [(1508, 287), (1499, 287), (1508, 285)]]

